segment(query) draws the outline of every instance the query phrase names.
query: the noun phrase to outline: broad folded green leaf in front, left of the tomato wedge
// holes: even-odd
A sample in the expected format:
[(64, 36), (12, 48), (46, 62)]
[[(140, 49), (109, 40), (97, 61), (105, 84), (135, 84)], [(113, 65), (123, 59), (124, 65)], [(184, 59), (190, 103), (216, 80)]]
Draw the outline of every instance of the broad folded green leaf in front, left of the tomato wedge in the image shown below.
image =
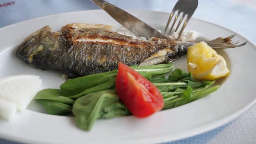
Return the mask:
[(97, 118), (115, 118), (130, 115), (119, 101), (114, 89), (108, 89), (82, 96), (73, 105), (75, 122), (79, 128), (90, 130)]

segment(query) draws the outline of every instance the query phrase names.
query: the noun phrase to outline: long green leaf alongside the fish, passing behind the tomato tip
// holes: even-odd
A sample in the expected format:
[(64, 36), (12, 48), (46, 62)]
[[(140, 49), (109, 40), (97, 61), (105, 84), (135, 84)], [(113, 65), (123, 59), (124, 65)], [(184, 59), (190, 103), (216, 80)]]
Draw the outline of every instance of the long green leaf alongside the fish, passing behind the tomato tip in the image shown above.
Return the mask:
[[(171, 72), (174, 69), (174, 65), (173, 63), (166, 63), (149, 66), (131, 66), (131, 68), (139, 72), (146, 79), (150, 79), (152, 75)], [(97, 92), (100, 90), (112, 88), (115, 85), (117, 72), (117, 70), (113, 70), (110, 72), (103, 72), (86, 75), (75, 79), (68, 79), (66, 82), (60, 85), (62, 95), (69, 98), (78, 98), (90, 92)]]

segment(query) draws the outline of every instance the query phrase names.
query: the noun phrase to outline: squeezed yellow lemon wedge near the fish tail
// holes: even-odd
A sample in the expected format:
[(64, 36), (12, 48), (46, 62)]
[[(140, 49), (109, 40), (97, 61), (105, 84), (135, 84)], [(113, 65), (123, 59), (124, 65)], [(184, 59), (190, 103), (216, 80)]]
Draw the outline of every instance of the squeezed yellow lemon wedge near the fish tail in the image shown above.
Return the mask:
[(225, 59), (204, 42), (188, 48), (187, 68), (195, 79), (200, 80), (219, 79), (230, 72)]

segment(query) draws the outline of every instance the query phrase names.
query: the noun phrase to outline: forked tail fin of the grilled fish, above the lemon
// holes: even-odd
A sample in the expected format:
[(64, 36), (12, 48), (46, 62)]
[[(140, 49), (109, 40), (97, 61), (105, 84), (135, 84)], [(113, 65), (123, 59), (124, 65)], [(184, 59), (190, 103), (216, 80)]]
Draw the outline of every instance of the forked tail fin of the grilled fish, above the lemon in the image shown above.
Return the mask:
[(213, 39), (209, 42), (207, 42), (208, 46), (212, 47), (213, 49), (230, 49), (230, 48), (236, 48), (240, 46), (246, 45), (247, 41), (245, 43), (240, 43), (238, 40), (237, 42), (232, 42), (232, 38), (235, 37), (236, 34), (233, 34), (231, 36), (228, 36), (226, 38), (218, 37), (217, 39)]

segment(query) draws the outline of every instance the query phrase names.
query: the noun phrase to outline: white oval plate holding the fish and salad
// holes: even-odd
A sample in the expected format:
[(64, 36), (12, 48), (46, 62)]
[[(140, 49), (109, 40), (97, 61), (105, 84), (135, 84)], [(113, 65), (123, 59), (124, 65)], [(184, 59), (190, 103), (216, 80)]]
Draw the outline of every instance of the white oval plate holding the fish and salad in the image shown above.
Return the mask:
[[(168, 13), (129, 11), (156, 29), (164, 29)], [(15, 45), (37, 29), (49, 25), (53, 30), (68, 23), (101, 23), (120, 26), (102, 10), (79, 11), (40, 17), (0, 29), (0, 77), (16, 74), (35, 74), (43, 79), (43, 88), (58, 88), (64, 82), (56, 72), (34, 69), (14, 56)], [(213, 39), (235, 32), (202, 20), (191, 19), (187, 29)], [(230, 75), (219, 80), (217, 92), (181, 107), (160, 111), (149, 118), (126, 116), (97, 120), (92, 131), (75, 126), (74, 118), (43, 114), (32, 102), (28, 110), (18, 113), (13, 121), (0, 119), (0, 137), (36, 144), (84, 143), (159, 143), (173, 141), (209, 131), (240, 116), (255, 101), (256, 46), (236, 34), (235, 41), (248, 41), (246, 46), (218, 51), (227, 61)], [(186, 69), (186, 58), (177, 60), (177, 67)]]

